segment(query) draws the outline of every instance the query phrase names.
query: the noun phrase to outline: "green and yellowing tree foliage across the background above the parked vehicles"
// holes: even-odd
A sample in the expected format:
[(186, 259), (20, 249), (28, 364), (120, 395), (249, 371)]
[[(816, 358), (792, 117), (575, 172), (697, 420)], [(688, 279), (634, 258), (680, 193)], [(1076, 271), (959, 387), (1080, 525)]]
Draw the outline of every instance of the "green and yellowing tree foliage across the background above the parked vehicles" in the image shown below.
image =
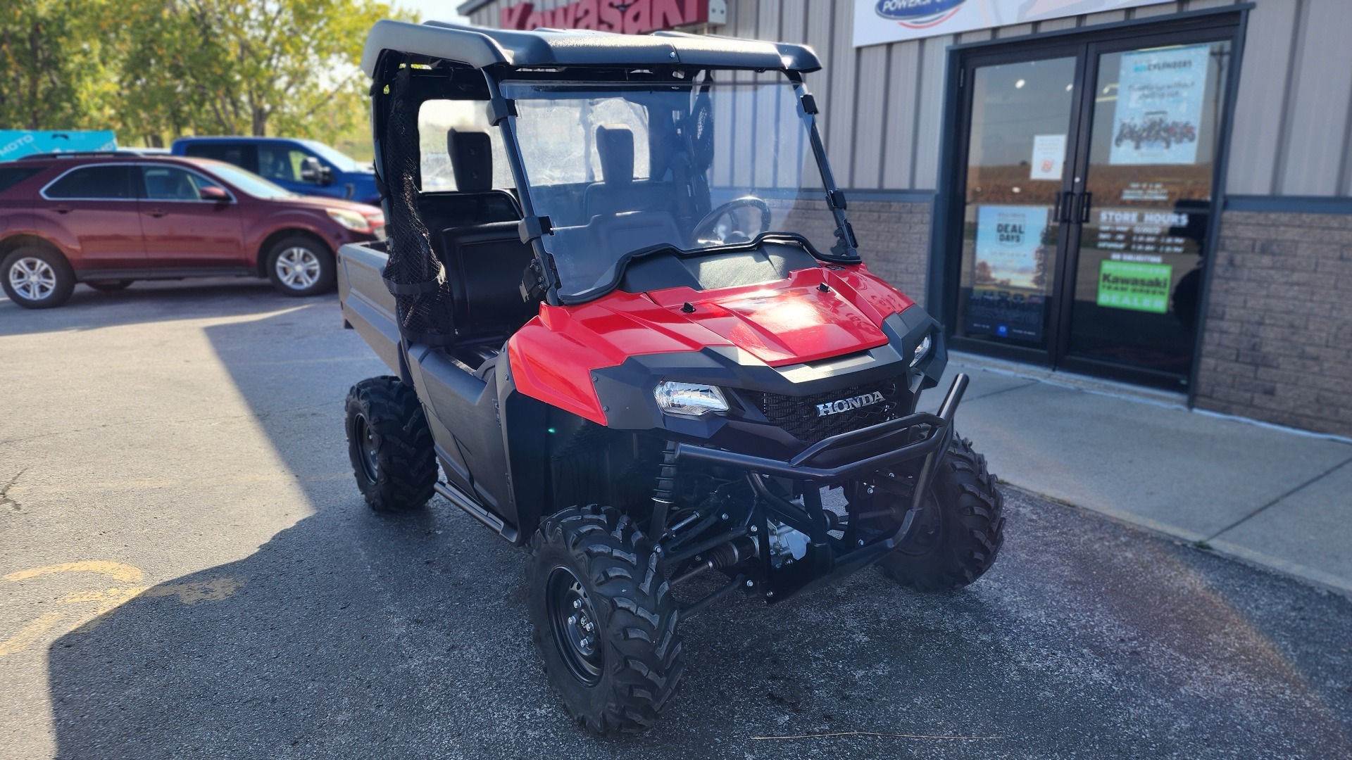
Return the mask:
[(333, 141), (366, 120), (375, 0), (5, 0), (0, 127)]

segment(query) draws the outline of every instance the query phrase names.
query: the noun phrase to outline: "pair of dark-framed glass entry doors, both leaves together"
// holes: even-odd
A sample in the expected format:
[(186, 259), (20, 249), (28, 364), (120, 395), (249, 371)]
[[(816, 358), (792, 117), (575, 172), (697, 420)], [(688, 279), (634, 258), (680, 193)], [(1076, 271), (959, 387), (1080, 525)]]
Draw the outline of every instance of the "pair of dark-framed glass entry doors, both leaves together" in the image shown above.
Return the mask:
[(1187, 385), (1230, 35), (964, 61), (946, 253), (955, 348)]

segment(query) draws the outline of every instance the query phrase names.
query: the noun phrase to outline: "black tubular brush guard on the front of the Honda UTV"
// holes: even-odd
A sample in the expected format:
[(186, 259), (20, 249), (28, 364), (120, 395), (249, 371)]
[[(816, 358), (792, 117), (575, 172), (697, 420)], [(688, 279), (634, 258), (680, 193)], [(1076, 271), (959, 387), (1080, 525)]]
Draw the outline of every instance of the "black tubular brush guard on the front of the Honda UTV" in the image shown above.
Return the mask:
[[(764, 506), (769, 517), (792, 527), (794, 530), (798, 530), (799, 533), (806, 534), (811, 540), (811, 556), (817, 559), (817, 567), (813, 569), (811, 577), (799, 584), (773, 584), (776, 588), (769, 588), (765, 594), (765, 599), (768, 602), (779, 602), (792, 594), (802, 594), (804, 591), (819, 588), (840, 577), (863, 569), (883, 559), (892, 549), (906, 541), (911, 531), (911, 526), (915, 523), (915, 515), (919, 514), (921, 506), (925, 503), (925, 496), (929, 494), (930, 484), (934, 481), (934, 473), (938, 469), (944, 452), (948, 450), (949, 444), (953, 441), (953, 415), (957, 412), (957, 404), (963, 400), (967, 384), (967, 375), (960, 373), (953, 379), (953, 384), (949, 387), (948, 394), (944, 395), (944, 402), (940, 404), (938, 414), (909, 414), (906, 417), (863, 427), (860, 430), (831, 435), (830, 438), (825, 438), (813, 444), (807, 449), (803, 449), (799, 454), (787, 461), (708, 449), (706, 446), (691, 444), (677, 445), (676, 457), (706, 461), (721, 467), (737, 467), (746, 469), (748, 481), (756, 492), (757, 500)], [(868, 453), (877, 450), (880, 446), (887, 446), (892, 441), (907, 440), (910, 437), (910, 430), (918, 425), (929, 426), (923, 440), (904, 444), (882, 453)], [(853, 458), (845, 462), (838, 461), (842, 453), (860, 450), (864, 452), (860, 458)], [(923, 462), (915, 475), (915, 487), (911, 491), (911, 503), (906, 510), (906, 514), (902, 517), (902, 523), (896, 531), (841, 556), (833, 556), (833, 552), (830, 550), (826, 536), (827, 525), (825, 525), (818, 515), (811, 514), (806, 508), (821, 507), (821, 496), (815, 488), (804, 491), (804, 506), (798, 506), (772, 492), (765, 485), (763, 479), (768, 475), (807, 483), (840, 481), (872, 473), (888, 465), (896, 465), (898, 462), (919, 457), (923, 457)], [(746, 526), (741, 526), (734, 529), (727, 536), (721, 536), (703, 544), (713, 545), (737, 536), (745, 536), (746, 533)], [(695, 549), (706, 549), (706, 546), (700, 545)], [(692, 550), (685, 550), (681, 552), (680, 556), (665, 557), (665, 560), (684, 560), (694, 553), (695, 552)]]

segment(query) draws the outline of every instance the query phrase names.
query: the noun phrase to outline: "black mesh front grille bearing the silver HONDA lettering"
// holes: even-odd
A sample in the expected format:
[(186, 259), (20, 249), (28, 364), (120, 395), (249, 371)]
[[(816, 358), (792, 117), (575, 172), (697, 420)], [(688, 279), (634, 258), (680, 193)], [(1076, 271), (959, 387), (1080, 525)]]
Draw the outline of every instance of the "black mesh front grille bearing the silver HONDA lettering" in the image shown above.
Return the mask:
[[(742, 391), (742, 395), (765, 415), (771, 425), (783, 427), (800, 441), (815, 444), (822, 438), (900, 417), (903, 389), (904, 385), (899, 380), (890, 379), (813, 394), (811, 396), (781, 396), (760, 391)], [(830, 404), (871, 394), (883, 394), (883, 400), (837, 414), (818, 414), (818, 404)]]

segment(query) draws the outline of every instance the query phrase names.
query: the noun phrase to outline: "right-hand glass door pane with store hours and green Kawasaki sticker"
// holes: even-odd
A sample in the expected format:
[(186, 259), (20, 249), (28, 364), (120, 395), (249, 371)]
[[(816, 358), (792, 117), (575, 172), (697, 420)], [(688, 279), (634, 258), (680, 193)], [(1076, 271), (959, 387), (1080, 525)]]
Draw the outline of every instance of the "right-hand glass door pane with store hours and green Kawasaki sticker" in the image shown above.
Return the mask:
[(1230, 43), (1094, 54), (1065, 356), (1186, 380)]

